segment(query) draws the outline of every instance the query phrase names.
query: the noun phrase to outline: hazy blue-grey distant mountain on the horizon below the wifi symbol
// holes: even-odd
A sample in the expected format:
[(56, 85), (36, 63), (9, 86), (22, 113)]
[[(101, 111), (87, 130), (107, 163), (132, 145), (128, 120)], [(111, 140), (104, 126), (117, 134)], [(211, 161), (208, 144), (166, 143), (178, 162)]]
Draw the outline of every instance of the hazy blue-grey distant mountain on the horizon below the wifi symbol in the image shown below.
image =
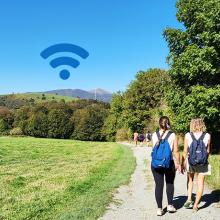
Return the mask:
[(57, 89), (46, 91), (44, 93), (70, 96), (81, 99), (97, 99), (103, 102), (110, 102), (112, 98), (112, 93), (100, 88), (91, 91), (85, 91), (82, 89)]

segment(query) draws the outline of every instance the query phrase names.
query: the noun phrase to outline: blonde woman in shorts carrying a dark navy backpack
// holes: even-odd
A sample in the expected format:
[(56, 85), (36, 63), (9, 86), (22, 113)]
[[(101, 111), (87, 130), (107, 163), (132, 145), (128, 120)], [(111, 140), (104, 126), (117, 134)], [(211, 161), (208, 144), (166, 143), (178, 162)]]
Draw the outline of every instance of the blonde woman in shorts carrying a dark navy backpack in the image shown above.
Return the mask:
[(206, 127), (201, 118), (192, 119), (190, 132), (185, 135), (183, 161), (188, 177), (188, 199), (185, 208), (192, 206), (192, 189), (195, 173), (197, 177), (197, 193), (193, 210), (198, 211), (198, 204), (203, 194), (204, 179), (208, 172), (208, 155), (210, 153), (211, 136), (206, 133)]

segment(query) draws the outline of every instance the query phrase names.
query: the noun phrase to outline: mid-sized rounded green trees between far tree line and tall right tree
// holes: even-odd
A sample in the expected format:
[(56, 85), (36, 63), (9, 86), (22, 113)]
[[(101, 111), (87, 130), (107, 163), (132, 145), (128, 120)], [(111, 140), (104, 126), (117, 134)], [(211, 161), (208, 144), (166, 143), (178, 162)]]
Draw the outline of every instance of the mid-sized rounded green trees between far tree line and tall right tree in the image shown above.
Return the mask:
[(144, 132), (148, 125), (155, 128), (155, 116), (158, 120), (164, 106), (167, 107), (164, 96), (169, 83), (165, 70), (149, 69), (138, 72), (124, 93), (113, 94), (110, 114), (103, 127), (107, 140), (114, 141), (117, 132), (131, 138), (133, 132)]

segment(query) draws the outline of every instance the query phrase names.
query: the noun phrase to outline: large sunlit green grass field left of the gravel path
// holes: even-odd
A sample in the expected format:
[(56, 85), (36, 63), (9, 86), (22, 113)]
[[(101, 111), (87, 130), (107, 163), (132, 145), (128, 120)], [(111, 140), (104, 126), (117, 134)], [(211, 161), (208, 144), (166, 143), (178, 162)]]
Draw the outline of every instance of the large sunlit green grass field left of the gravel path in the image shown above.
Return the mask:
[(97, 219), (135, 168), (117, 143), (0, 138), (0, 219)]

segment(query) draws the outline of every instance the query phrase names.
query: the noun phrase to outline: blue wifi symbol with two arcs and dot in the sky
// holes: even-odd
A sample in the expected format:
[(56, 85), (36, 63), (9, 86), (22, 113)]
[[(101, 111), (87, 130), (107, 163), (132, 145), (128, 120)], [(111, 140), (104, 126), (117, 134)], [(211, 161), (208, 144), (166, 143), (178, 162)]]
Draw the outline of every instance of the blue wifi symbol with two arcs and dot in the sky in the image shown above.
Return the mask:
[[(84, 50), (82, 47), (73, 45), (73, 44), (68, 44), (68, 43), (62, 43), (62, 44), (55, 44), (52, 45), (45, 50), (41, 52), (41, 56), (44, 59), (47, 59), (51, 55), (54, 55), (58, 52), (72, 52), (74, 54), (77, 54), (83, 59), (86, 59), (89, 56), (89, 53)], [(66, 66), (71, 66), (73, 68), (77, 68), (79, 66), (80, 62), (72, 57), (68, 56), (62, 56), (62, 57), (57, 57), (53, 60), (50, 61), (50, 65), (53, 68), (59, 67), (61, 65), (66, 65)], [(60, 78), (63, 80), (66, 80), (70, 77), (70, 72), (66, 69), (63, 69), (60, 71)]]

